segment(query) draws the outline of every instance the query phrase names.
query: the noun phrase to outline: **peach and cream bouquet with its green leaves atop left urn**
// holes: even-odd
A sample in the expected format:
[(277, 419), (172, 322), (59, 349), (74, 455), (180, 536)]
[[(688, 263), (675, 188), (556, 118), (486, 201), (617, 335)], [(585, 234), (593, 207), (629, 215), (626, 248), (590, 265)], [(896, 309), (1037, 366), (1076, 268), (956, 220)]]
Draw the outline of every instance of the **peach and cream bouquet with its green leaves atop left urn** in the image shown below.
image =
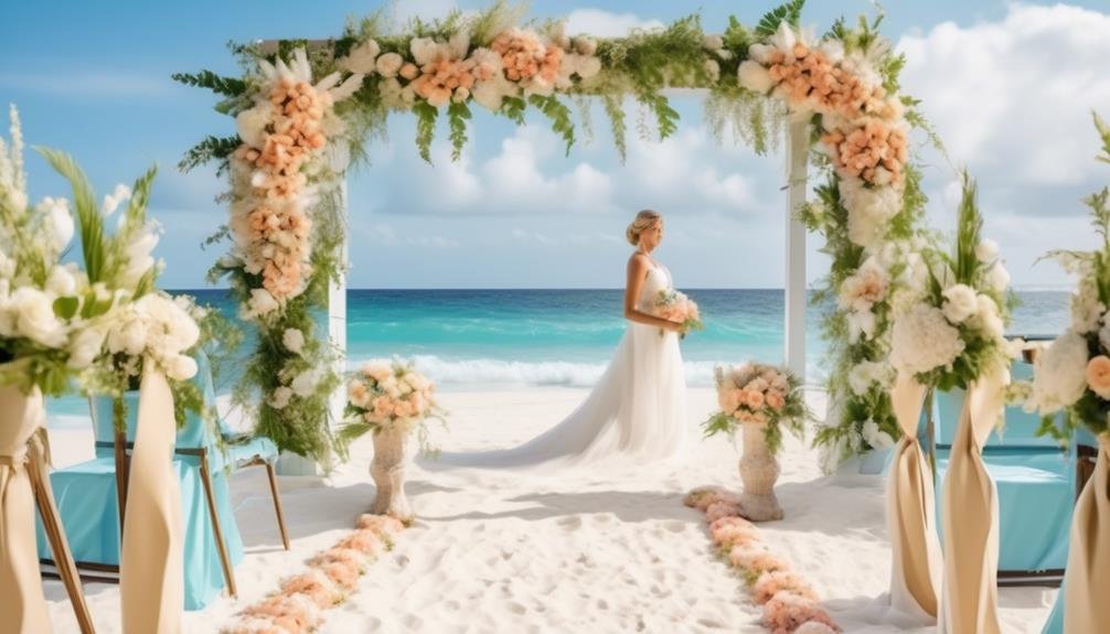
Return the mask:
[(355, 374), (347, 384), (345, 413), (356, 420), (340, 431), (344, 442), (367, 431), (407, 433), (417, 429), (425, 452), (428, 451), (425, 422), (430, 418), (443, 420), (443, 411), (435, 402), (435, 384), (411, 364), (396, 359), (371, 361)]

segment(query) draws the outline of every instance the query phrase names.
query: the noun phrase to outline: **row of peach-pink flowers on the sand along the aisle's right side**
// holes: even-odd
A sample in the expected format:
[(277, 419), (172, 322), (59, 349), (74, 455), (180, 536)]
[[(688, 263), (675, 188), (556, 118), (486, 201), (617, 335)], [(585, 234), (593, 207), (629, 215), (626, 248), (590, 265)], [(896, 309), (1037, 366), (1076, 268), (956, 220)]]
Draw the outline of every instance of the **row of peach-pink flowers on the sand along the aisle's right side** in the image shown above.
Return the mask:
[[(763, 624), (774, 634), (839, 632), (817, 593), (790, 566), (759, 542), (759, 532), (740, 517), (739, 498), (724, 489), (695, 489), (687, 507), (706, 513), (714, 543), (748, 581), (751, 599), (764, 606)], [(726, 514), (726, 511), (731, 511)]]

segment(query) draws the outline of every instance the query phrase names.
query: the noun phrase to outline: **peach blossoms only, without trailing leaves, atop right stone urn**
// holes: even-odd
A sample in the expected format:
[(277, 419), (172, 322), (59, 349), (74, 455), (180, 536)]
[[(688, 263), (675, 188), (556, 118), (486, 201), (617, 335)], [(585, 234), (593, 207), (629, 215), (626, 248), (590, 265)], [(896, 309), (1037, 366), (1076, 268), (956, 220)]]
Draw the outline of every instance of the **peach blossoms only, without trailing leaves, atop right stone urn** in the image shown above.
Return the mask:
[(774, 366), (745, 364), (717, 372), (717, 405), (740, 422), (775, 420), (789, 400), (799, 398), (789, 374)]

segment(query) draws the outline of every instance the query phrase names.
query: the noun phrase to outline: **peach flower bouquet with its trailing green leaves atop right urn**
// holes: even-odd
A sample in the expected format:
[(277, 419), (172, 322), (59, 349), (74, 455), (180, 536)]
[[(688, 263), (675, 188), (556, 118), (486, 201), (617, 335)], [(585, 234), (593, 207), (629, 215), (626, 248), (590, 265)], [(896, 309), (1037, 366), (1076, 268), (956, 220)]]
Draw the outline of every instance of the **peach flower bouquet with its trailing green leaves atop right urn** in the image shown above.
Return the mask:
[(774, 456), (783, 446), (785, 426), (795, 436), (805, 433), (813, 418), (801, 390), (801, 381), (789, 370), (764, 364), (744, 364), (714, 369), (717, 405), (720, 410), (702, 423), (706, 438), (715, 433), (733, 436), (746, 422), (766, 425), (767, 450)]

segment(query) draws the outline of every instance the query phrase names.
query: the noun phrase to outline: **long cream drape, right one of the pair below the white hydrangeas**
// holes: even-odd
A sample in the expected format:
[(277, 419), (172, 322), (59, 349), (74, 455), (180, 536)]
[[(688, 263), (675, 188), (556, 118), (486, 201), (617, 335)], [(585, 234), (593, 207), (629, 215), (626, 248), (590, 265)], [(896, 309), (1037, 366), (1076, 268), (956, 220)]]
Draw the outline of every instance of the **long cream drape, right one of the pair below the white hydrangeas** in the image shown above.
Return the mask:
[(969, 386), (944, 484), (945, 576), (940, 632), (999, 634), (998, 490), (982, 446), (1002, 409), (1002, 380)]

